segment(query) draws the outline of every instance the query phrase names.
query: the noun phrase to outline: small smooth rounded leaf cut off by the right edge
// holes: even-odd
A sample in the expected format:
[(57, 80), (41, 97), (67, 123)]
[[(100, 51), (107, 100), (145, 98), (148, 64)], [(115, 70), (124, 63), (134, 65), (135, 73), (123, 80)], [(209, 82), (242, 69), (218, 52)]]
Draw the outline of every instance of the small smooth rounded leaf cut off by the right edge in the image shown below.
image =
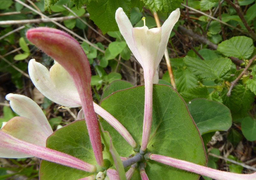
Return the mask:
[(241, 123), (242, 133), (248, 141), (256, 140), (256, 120), (247, 116)]

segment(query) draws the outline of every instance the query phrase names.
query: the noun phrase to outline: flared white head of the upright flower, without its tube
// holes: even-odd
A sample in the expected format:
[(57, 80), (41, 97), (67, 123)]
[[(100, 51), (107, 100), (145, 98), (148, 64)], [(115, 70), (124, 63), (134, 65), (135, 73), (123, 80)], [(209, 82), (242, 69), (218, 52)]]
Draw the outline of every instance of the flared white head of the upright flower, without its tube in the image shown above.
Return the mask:
[[(168, 43), (171, 31), (180, 17), (180, 10), (173, 11), (162, 27), (148, 29), (147, 26), (132, 27), (123, 11), (116, 10), (116, 22), (128, 47), (142, 66), (144, 73), (154, 75)], [(146, 71), (146, 72), (145, 72)]]

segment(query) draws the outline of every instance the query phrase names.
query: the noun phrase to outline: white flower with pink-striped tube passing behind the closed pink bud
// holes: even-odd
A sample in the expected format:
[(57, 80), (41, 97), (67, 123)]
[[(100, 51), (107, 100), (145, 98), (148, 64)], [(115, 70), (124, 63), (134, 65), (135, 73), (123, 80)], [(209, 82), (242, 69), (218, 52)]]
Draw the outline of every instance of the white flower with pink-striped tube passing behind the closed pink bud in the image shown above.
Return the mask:
[[(73, 79), (59, 63), (55, 63), (48, 71), (44, 65), (31, 59), (28, 63), (28, 73), (36, 88), (48, 99), (62, 106), (82, 106)], [(94, 102), (93, 107), (95, 113), (113, 126), (133, 148), (136, 148), (135, 140), (116, 118)], [(82, 114), (82, 111), (79, 112), (77, 119), (83, 119)]]

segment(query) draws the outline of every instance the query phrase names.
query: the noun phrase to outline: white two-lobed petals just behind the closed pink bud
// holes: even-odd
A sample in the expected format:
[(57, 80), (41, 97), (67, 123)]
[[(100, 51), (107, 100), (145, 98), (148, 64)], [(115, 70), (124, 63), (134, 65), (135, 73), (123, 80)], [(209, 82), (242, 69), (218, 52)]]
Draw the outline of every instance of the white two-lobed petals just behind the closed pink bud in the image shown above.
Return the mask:
[(55, 63), (49, 72), (44, 65), (31, 59), (28, 73), (33, 84), (46, 98), (62, 106), (82, 106), (73, 79), (60, 64)]

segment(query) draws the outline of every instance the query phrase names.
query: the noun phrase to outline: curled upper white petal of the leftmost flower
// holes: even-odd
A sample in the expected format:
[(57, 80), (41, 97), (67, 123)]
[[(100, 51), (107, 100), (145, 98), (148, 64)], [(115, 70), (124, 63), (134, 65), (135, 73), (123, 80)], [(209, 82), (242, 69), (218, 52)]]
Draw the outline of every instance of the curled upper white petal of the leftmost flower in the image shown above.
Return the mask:
[(53, 133), (44, 112), (32, 99), (20, 94), (12, 93), (7, 94), (5, 98), (10, 101), (12, 110), (15, 113), (32, 120), (33, 123), (40, 126), (41, 132), (43, 132), (46, 137)]

